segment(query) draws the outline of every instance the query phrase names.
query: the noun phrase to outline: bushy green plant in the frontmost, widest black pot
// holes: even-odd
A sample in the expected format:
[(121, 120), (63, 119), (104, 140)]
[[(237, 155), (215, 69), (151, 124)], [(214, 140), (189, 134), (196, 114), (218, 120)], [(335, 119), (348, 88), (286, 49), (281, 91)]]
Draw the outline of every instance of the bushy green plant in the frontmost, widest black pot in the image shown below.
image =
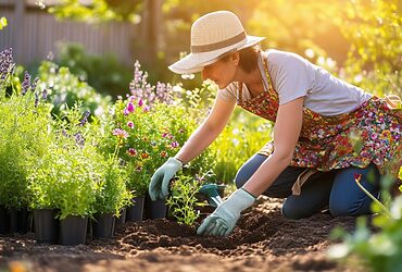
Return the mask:
[(53, 190), (60, 209), (60, 243), (85, 244), (88, 217), (93, 213), (97, 184), (104, 158), (97, 150), (98, 131), (81, 120), (80, 104), (67, 109), (55, 123), (52, 160), (43, 168), (58, 181)]

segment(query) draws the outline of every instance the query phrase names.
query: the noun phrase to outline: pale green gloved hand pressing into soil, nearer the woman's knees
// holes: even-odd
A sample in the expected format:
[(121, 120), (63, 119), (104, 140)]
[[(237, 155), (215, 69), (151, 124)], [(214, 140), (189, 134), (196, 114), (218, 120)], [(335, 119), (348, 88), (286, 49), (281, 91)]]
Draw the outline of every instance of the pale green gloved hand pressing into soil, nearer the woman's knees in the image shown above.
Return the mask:
[(243, 188), (235, 190), (197, 230), (198, 235), (227, 236), (235, 228), (240, 212), (252, 206), (255, 198)]

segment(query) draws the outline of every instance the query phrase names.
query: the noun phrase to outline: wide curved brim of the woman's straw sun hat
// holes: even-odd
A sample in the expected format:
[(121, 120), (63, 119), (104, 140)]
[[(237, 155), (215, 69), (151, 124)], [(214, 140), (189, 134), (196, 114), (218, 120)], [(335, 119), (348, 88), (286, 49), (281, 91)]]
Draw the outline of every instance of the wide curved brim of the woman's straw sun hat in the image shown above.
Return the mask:
[(193, 74), (198, 73), (202, 70), (203, 66), (214, 63), (217, 61), (222, 55), (227, 52), (236, 52), (241, 49), (252, 47), (260, 41), (265, 39), (265, 37), (257, 37), (257, 36), (247, 36), (246, 39), (241, 40), (240, 42), (234, 44), (229, 47), (225, 47), (223, 49), (210, 51), (210, 52), (200, 52), (200, 53), (189, 53), (185, 58), (179, 61), (176, 61), (168, 69), (176, 73), (176, 74)]

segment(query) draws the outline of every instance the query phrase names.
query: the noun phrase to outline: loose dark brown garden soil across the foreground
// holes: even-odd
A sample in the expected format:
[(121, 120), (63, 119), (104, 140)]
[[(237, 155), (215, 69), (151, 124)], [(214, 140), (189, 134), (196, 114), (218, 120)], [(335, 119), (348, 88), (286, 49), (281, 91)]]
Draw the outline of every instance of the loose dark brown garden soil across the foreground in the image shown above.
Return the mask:
[(228, 237), (200, 237), (194, 226), (158, 219), (117, 225), (113, 239), (37, 244), (34, 234), (0, 236), (0, 271), (355, 271), (326, 259), (334, 227), (355, 219), (280, 214), (281, 200), (260, 197)]

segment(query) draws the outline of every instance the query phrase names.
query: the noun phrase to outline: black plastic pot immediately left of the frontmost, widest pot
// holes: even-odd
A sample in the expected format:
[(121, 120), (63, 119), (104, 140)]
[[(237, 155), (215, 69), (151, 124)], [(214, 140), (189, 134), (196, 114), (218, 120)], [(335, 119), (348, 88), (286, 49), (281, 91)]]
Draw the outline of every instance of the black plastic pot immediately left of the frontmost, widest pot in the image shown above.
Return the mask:
[(34, 210), (35, 236), (38, 243), (56, 244), (59, 238), (59, 220), (56, 209)]

